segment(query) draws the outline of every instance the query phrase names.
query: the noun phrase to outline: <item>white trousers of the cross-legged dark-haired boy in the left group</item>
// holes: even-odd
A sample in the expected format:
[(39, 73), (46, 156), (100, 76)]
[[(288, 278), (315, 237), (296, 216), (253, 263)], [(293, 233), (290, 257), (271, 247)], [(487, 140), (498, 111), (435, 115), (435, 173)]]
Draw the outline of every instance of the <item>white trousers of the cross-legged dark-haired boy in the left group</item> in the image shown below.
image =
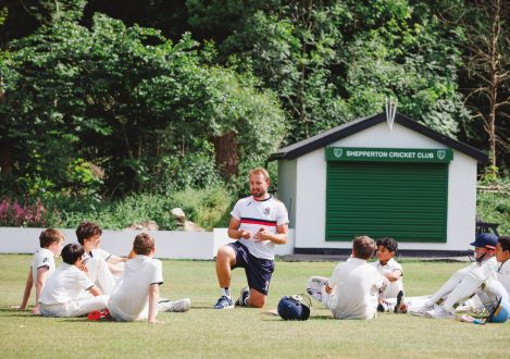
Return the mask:
[(69, 304), (45, 305), (39, 304), (39, 311), (45, 317), (83, 317), (95, 310), (107, 308), (109, 295), (91, 298), (75, 299)]

